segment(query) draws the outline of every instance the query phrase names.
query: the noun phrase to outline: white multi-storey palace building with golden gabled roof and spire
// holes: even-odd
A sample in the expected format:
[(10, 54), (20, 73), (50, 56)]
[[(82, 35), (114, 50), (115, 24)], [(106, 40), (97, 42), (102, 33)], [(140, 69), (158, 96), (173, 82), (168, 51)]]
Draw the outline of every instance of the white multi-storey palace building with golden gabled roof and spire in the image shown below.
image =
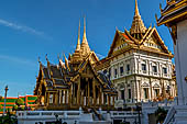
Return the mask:
[(160, 101), (176, 97), (173, 54), (156, 27), (146, 27), (138, 1), (130, 31), (116, 31), (108, 56), (97, 63), (97, 70), (108, 71), (125, 103)]

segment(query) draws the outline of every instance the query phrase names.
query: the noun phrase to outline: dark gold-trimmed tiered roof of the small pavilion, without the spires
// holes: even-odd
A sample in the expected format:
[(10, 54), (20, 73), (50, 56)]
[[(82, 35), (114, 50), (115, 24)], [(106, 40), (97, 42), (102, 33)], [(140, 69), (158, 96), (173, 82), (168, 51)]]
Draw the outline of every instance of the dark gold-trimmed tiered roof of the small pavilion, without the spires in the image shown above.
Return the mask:
[(95, 70), (91, 60), (94, 56), (95, 53), (91, 52), (89, 56), (87, 56), (87, 58), (79, 64), (78, 69), (74, 69), (73, 64), (70, 64), (70, 61), (67, 61), (67, 59), (65, 59), (66, 63), (63, 63), (63, 60), (59, 59), (59, 63), (57, 65), (50, 63), (48, 59), (47, 59), (47, 66), (44, 66), (42, 63), (40, 63), (40, 72), (37, 77), (37, 82), (44, 79), (46, 87), (54, 87), (54, 88), (58, 87), (63, 89), (64, 88), (68, 89), (69, 86), (78, 77), (80, 77), (80, 74), (89, 66), (90, 67), (89, 70), (91, 70), (95, 77), (100, 81), (100, 83), (103, 86), (103, 89), (107, 91), (112, 90), (112, 92), (116, 92), (109, 78), (102, 71), (97, 72)]

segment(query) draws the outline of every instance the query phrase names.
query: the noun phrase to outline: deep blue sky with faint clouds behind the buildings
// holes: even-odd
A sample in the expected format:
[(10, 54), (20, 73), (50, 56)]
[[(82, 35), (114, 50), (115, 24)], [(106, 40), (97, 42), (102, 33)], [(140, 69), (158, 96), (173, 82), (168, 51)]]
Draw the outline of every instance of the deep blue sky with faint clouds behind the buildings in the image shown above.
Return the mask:
[[(57, 64), (57, 56), (74, 53), (79, 20), (84, 16), (88, 44), (99, 58), (106, 57), (116, 29), (130, 30), (135, 0), (1, 0), (0, 1), (0, 95), (33, 94), (38, 74), (38, 57)], [(138, 0), (146, 27), (156, 26), (160, 3), (166, 0)], [(168, 29), (156, 26), (169, 50)]]

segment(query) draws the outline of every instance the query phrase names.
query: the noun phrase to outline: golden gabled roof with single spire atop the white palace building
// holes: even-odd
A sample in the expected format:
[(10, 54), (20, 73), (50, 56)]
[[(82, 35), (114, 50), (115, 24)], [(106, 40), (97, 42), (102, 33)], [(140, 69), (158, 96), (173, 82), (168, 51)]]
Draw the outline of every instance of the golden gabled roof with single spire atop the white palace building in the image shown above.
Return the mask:
[(150, 26), (146, 29), (141, 19), (135, 0), (135, 11), (130, 32), (124, 30), (116, 31), (116, 35), (108, 53), (108, 57), (114, 57), (130, 49), (142, 49), (148, 53), (155, 53), (168, 57), (173, 57), (167, 46), (162, 41), (156, 27)]

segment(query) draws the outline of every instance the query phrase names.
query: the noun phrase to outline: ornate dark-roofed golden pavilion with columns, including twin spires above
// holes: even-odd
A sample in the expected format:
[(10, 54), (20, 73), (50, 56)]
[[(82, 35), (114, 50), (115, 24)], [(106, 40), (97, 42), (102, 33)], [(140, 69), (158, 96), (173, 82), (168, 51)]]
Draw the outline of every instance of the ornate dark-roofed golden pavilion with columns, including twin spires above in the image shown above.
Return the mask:
[(38, 97), (37, 109), (43, 110), (112, 110), (117, 91), (105, 72), (97, 72), (99, 61), (95, 52), (90, 50), (86, 25), (80, 44), (80, 25), (75, 53), (65, 63), (54, 65), (47, 58), (47, 65), (40, 61), (34, 94)]

